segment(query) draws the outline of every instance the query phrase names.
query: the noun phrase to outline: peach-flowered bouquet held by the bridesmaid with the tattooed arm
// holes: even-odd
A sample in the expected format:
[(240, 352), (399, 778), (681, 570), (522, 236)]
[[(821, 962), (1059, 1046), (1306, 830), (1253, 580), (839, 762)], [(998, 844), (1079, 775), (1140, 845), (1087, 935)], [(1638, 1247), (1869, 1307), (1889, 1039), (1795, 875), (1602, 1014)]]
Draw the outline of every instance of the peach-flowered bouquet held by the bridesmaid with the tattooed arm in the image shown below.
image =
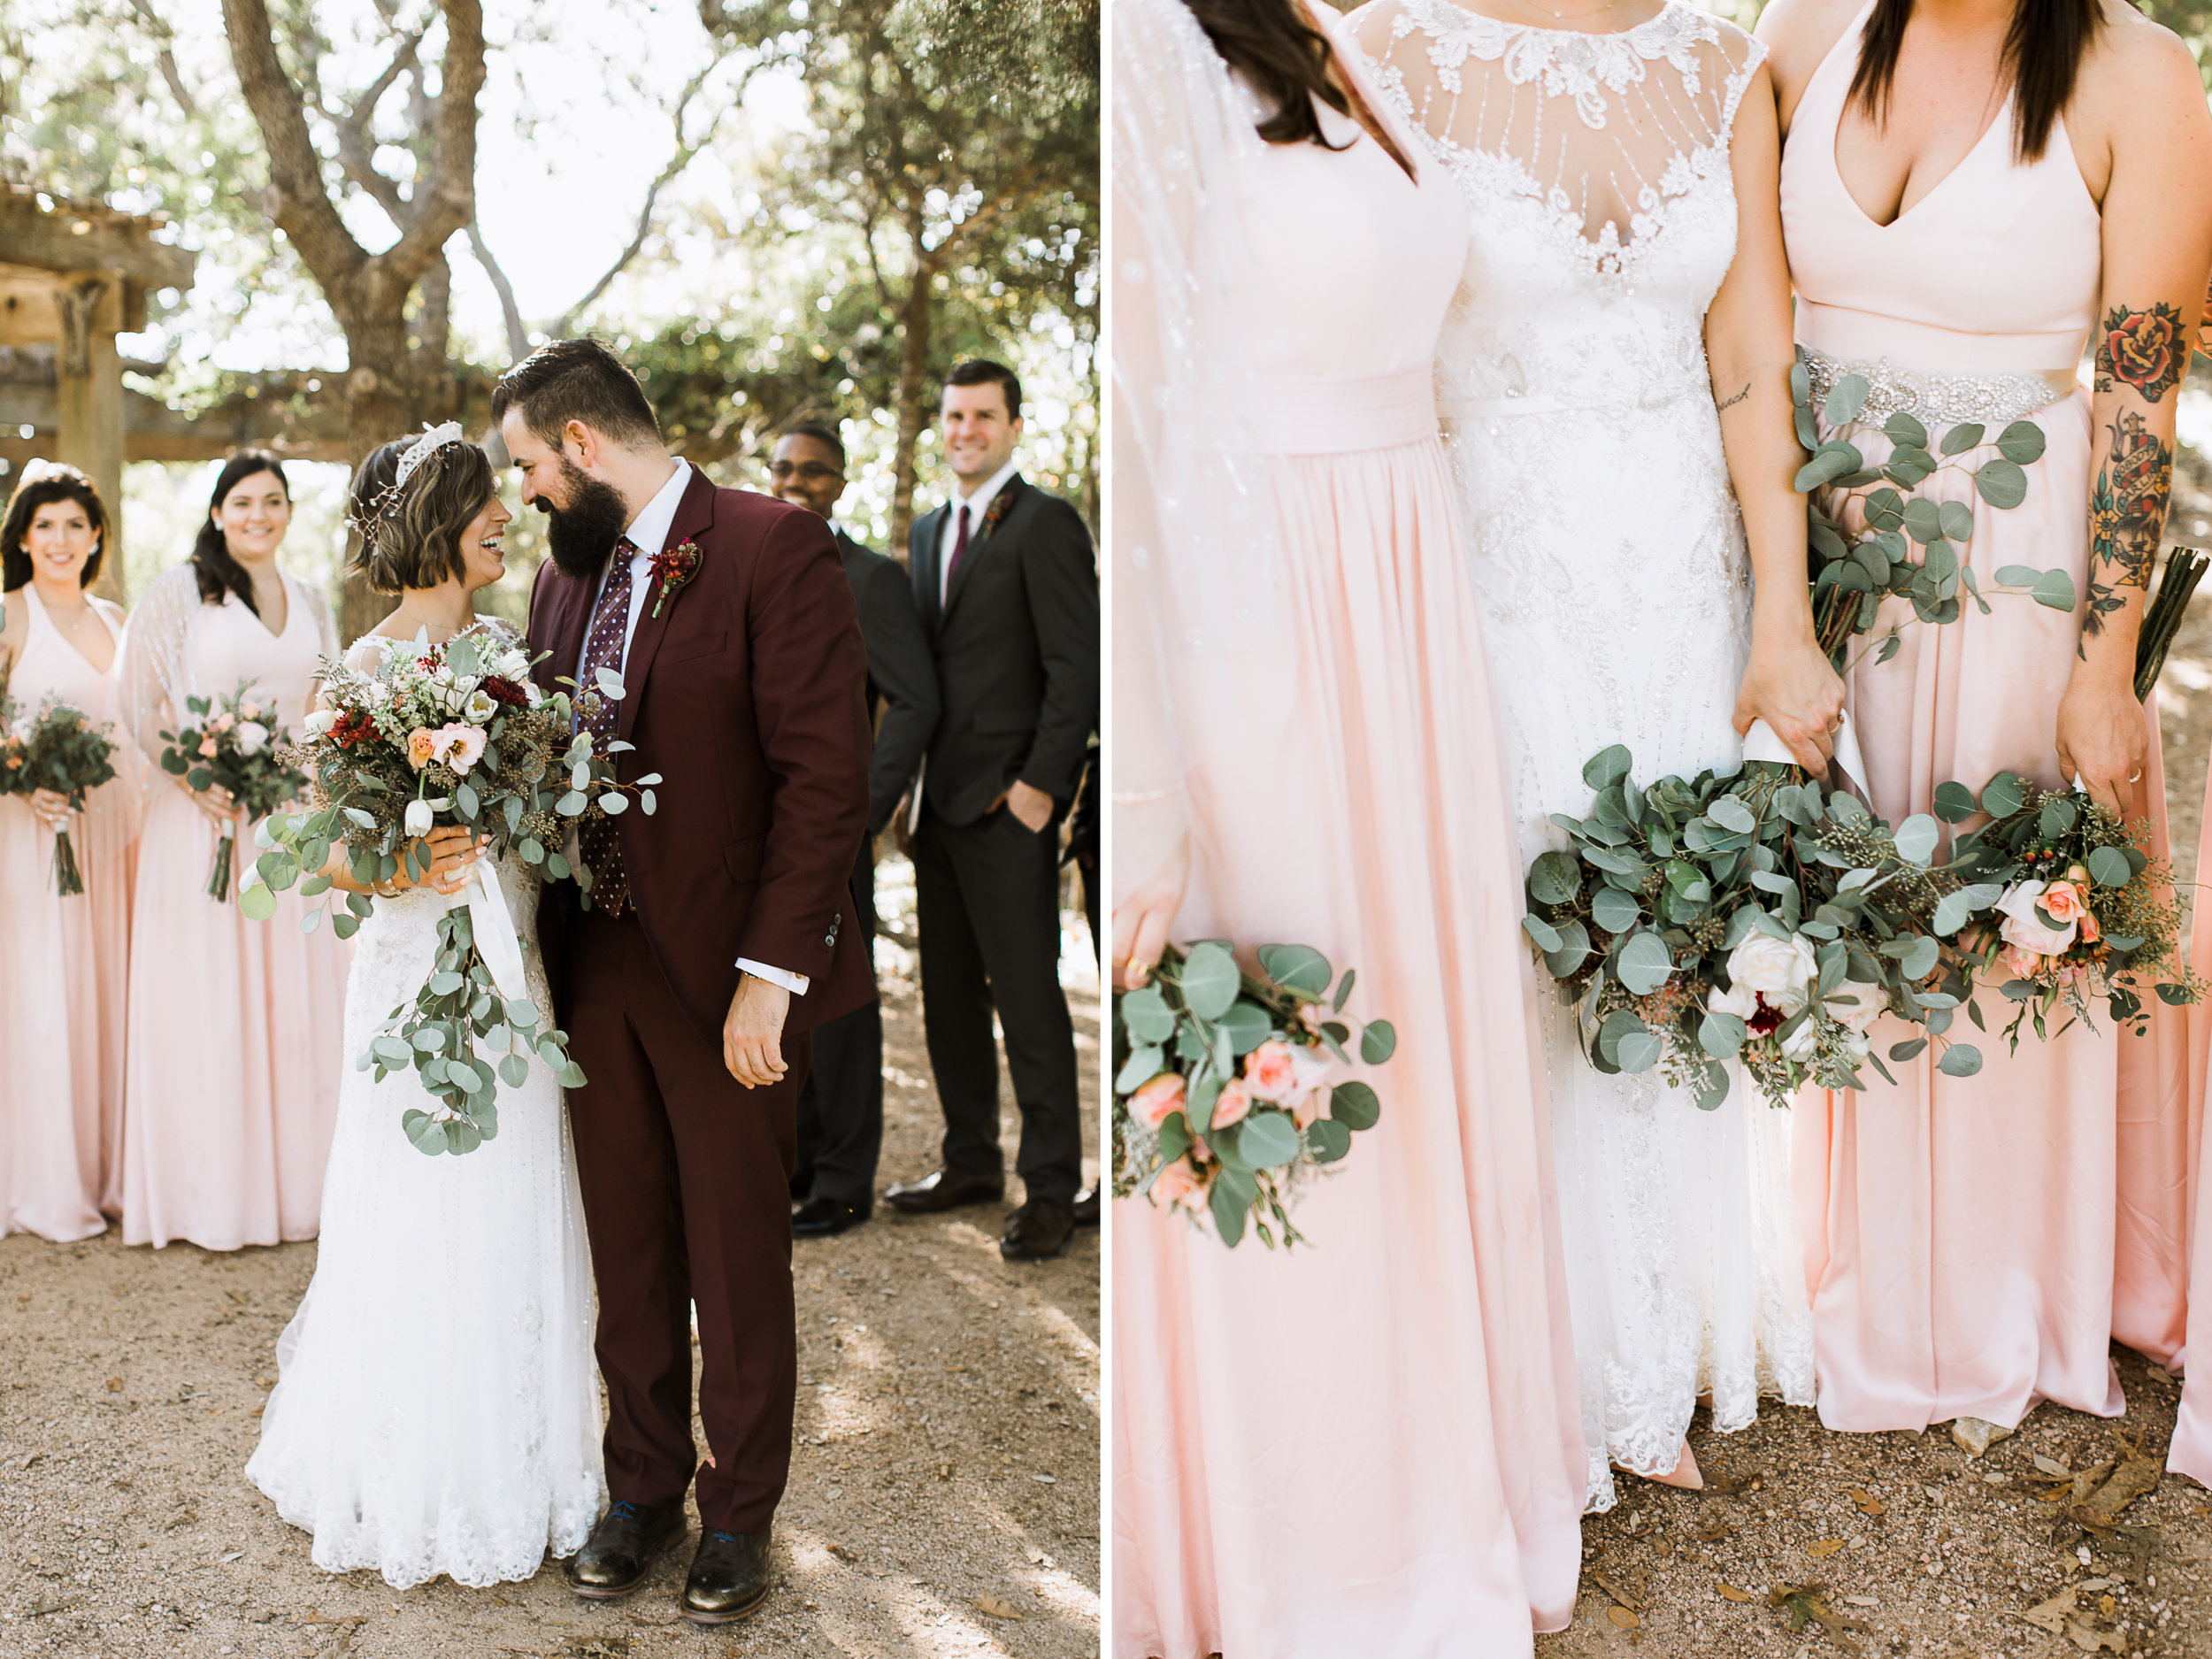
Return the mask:
[(1989, 814), (1960, 836), (1958, 858), (2002, 885), (1971, 942), (1980, 975), (2020, 1004), (2004, 1029), (2015, 1051), (2024, 1022), (2037, 1037), (2057, 1035), (2051, 1015), (2066, 1009), (2059, 1031), (2088, 1022), (2093, 998), (2115, 1024), (2146, 1031), (2141, 984), (2154, 975), (2172, 975), (2154, 980), (2168, 1006), (2203, 1000), (2205, 982), (2181, 964), (2172, 869), (2143, 849), (2148, 821), (2130, 825), (2081, 790), (2037, 790), (2011, 772), (1991, 779), (1980, 803), (1938, 792), (1936, 810), (1953, 821)]

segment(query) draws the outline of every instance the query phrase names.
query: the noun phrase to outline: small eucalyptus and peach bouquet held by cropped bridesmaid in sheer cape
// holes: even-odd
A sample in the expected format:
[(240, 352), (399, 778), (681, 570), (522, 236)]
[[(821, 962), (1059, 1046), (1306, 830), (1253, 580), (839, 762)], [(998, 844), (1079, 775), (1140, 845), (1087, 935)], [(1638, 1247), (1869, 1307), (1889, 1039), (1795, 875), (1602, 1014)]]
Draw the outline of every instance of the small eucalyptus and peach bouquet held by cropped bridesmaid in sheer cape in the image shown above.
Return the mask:
[[(1230, 1248), (1250, 1221), (1272, 1250), (1274, 1217), (1287, 1250), (1303, 1234), (1285, 1201), (1383, 1104), (1363, 1082), (1332, 1082), (1352, 1064), (1343, 1009), (1358, 975), (1345, 969), (1332, 995), (1327, 958), (1305, 945), (1261, 945), (1259, 964), (1245, 973), (1221, 940), (1170, 947), (1152, 984), (1115, 995), (1113, 1192), (1212, 1214)], [(1385, 1020), (1358, 1037), (1369, 1066), (1398, 1048)]]

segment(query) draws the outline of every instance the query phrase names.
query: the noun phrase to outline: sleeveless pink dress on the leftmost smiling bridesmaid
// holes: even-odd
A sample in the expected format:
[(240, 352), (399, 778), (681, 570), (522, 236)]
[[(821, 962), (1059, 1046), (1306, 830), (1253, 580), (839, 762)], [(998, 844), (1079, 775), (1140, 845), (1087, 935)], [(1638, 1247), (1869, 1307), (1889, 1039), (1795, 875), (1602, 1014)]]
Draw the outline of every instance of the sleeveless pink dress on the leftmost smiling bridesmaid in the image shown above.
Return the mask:
[[(88, 1239), (115, 1212), (124, 1108), (124, 982), (131, 971), (131, 854), (137, 783), (128, 732), (113, 730), (115, 670), (62, 637), (38, 591), (9, 699), (49, 697), (111, 726), (115, 781), (69, 825), (84, 891), (53, 889), (53, 832), (22, 796), (0, 799), (0, 1232)], [(115, 661), (122, 661), (117, 644)]]

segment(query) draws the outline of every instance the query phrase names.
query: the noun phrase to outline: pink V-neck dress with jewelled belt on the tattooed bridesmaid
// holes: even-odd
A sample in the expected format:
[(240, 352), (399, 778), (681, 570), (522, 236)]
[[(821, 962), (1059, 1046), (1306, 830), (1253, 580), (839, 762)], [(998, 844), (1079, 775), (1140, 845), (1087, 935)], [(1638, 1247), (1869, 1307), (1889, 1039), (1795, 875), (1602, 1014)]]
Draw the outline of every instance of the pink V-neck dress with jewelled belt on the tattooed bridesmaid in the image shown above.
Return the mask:
[[(2042, 159), (2013, 155), (2011, 102), (1964, 161), (1893, 223), (1874, 223), (1836, 170), (1836, 128), (1867, 11), (1814, 73), (1783, 150), (1783, 234), (1798, 292), (1798, 343), (1818, 387), (1843, 372), (1876, 392), (1878, 425), (1909, 409), (1940, 442), (1951, 425), (1995, 436), (2033, 418), (2048, 438), (2026, 502), (1993, 511), (1962, 471), (1922, 493), (1973, 509), (1973, 571), (2064, 568), (2088, 591), (2090, 398), (2068, 378), (2095, 319), (2101, 223), (2064, 122)], [(2055, 389), (2059, 387), (2059, 389)], [(2064, 392), (2062, 392), (2064, 389)], [(1823, 434), (1825, 436), (1825, 434)], [(1889, 599), (1878, 624), (1911, 617)], [(1949, 626), (1911, 626), (1887, 664), (1860, 664), (1849, 708), (1874, 807), (1929, 812), (1938, 783), (1980, 790), (2011, 770), (2059, 787), (2055, 732), (2079, 613), (1993, 595)], [(2137, 816), (2166, 854), (2157, 721)], [(1991, 998), (1984, 998), (1991, 1002)], [(1820, 1420), (1832, 1429), (1922, 1429), (1960, 1416), (2015, 1425), (2042, 1398), (2121, 1411), (2108, 1340), (2154, 1358), (2181, 1343), (2185, 1152), (2179, 1011), (2150, 1002), (2150, 1035), (2075, 1026), (2008, 1055), (1975, 1040), (1984, 1068), (1947, 1077), (1924, 1053), (1891, 1064), (1898, 1086), (1807, 1093), (1796, 1110), (1794, 1183), (1814, 1292)], [(1905, 1033), (1885, 1024), (1876, 1046)]]

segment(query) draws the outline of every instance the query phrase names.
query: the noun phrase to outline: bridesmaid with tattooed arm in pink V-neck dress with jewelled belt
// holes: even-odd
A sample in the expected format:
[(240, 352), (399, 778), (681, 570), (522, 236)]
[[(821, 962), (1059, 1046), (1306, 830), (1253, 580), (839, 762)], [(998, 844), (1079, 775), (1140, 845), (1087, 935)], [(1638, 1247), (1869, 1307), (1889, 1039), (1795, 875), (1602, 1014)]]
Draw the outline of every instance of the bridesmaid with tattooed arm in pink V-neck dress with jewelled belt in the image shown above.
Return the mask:
[[(2013, 73), (2006, 29), (2024, 31)], [(2166, 515), (2174, 385), (2212, 261), (2212, 119), (2181, 42), (2117, 0), (1778, 0), (1783, 228), (1816, 403), (1856, 369), (1863, 420), (1918, 416), (2048, 449), (2026, 502), (1993, 511), (1958, 471), (1924, 493), (1973, 509), (1971, 562), (2062, 568), (2086, 606), (2020, 595), (1907, 626), (1851, 675), (1876, 812), (1929, 812), (1938, 783), (2077, 774), (2152, 821), (2157, 723), (2130, 686)], [(2068, 46), (2068, 42), (2077, 42)], [(1887, 69), (1885, 69), (1887, 64)], [(1860, 91), (1854, 91), (1860, 88)], [(2077, 383), (2095, 325), (2097, 385)], [(1887, 440), (1874, 436), (1878, 462)], [(2093, 507), (2093, 493), (2099, 498)], [(1898, 619), (1907, 602), (1889, 599)], [(1991, 998), (1984, 998), (1989, 1002)], [(2000, 1022), (2008, 1004), (1997, 1002)], [(1820, 1420), (1953, 1422), (1978, 1451), (2037, 1400), (2112, 1416), (2117, 1336), (2181, 1343), (2185, 1152), (2181, 1018), (2099, 1020), (1975, 1077), (1896, 1064), (1898, 1086), (1798, 1106), (1796, 1188), (1814, 1292)], [(1896, 1033), (1905, 1035), (1905, 1033)]]

